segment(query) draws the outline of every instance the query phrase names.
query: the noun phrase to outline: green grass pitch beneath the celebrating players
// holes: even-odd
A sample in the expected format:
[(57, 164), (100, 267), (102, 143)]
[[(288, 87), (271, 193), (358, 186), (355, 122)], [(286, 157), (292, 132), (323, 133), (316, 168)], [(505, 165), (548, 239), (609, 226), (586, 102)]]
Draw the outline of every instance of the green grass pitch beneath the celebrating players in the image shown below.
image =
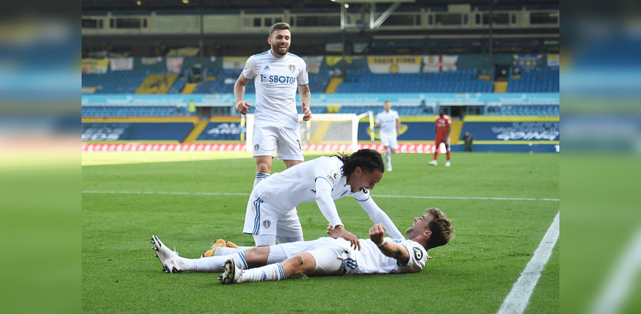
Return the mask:
[[(165, 274), (149, 241), (158, 235), (188, 258), (218, 238), (253, 245), (241, 232), (253, 159), (112, 164), (109, 154), (83, 153), (83, 313), (495, 313), (559, 211), (558, 154), (453, 153), (445, 168), (444, 154), (434, 167), (431, 154), (399, 153), (376, 203), (401, 231), (428, 207), (455, 229), (425, 269), (223, 286), (218, 274)], [(103, 165), (86, 166), (93, 157)], [(274, 161), (272, 172), (283, 169)], [(336, 203), (347, 230), (366, 238), (362, 208), (351, 196)], [(325, 236), (315, 203), (298, 210), (305, 239)], [(524, 313), (559, 312), (559, 247)]]

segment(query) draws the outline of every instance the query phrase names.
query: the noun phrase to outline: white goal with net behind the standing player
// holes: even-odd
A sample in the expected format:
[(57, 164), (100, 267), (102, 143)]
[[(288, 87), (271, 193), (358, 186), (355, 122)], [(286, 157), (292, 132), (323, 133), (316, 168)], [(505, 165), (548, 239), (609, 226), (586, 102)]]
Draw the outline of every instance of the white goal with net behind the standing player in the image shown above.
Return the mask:
[[(372, 111), (363, 114), (340, 114), (340, 113), (315, 113), (312, 120), (303, 121), (303, 114), (298, 115), (299, 127), (301, 130), (301, 146), (303, 150), (315, 150), (316, 147), (338, 145), (338, 150), (356, 152), (358, 150), (358, 121), (369, 116), (369, 127), (374, 128)], [(247, 151), (254, 148), (254, 114), (241, 116), (241, 127), (243, 120), (246, 122)], [(374, 132), (372, 132), (374, 134)], [(242, 134), (241, 134), (242, 140)]]

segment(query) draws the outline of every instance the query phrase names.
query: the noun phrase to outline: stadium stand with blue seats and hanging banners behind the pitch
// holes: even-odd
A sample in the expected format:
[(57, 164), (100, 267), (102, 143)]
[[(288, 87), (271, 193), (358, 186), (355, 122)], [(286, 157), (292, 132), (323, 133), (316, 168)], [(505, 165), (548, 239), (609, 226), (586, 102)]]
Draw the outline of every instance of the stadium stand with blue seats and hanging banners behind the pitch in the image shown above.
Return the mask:
[[(85, 1), (82, 17), (83, 127), (128, 125), (119, 140), (243, 141), (234, 83), (248, 56), (269, 49), (265, 35), (280, 20), (292, 25), (292, 53), (306, 61), (313, 114), (378, 114), (383, 101), (391, 99), (402, 117), (399, 141), (409, 143), (433, 139), (433, 121), (442, 109), (453, 118), (454, 150), (460, 149), (460, 132), (467, 130), (462, 125), (477, 141), (525, 139), (519, 136), (552, 141), (555, 132), (558, 137), (558, 0), (506, 0), (489, 6), (487, 1), (401, 1), (394, 10), (388, 7), (388, 19), (370, 29), (361, 29), (367, 23), (362, 23), (358, 6), (338, 10), (331, 1), (256, 0), (252, 7), (264, 7), (249, 10), (238, 1), (201, 1), (197, 6), (211, 9), (204, 11), (183, 8), (190, 1), (183, 1), (179, 10), (169, 0), (144, 6), (90, 2), (96, 8), (87, 10)], [(231, 3), (238, 4), (230, 8)], [(296, 6), (285, 8), (292, 3)], [(127, 5), (137, 10), (125, 10)], [(158, 10), (149, 11), (149, 5)], [(510, 36), (481, 39), (479, 33), (490, 21), (497, 34)], [(176, 26), (181, 35), (174, 34)], [(429, 37), (421, 38), (425, 34)], [(247, 101), (255, 102), (255, 93), (251, 81)], [(255, 109), (249, 107), (249, 113)], [(300, 101), (297, 111), (302, 112)], [(369, 123), (364, 120), (360, 133)], [(161, 134), (167, 123), (185, 121), (189, 123), (178, 130), (179, 136)], [(133, 134), (138, 129), (145, 134)], [(218, 136), (210, 136), (219, 130)], [(500, 137), (494, 134), (503, 130)], [(365, 134), (368, 142), (370, 134)], [(83, 141), (103, 139), (114, 138), (83, 133)], [(556, 148), (552, 142), (517, 144), (500, 150), (559, 151), (558, 141)], [(501, 146), (481, 145), (487, 151)]]

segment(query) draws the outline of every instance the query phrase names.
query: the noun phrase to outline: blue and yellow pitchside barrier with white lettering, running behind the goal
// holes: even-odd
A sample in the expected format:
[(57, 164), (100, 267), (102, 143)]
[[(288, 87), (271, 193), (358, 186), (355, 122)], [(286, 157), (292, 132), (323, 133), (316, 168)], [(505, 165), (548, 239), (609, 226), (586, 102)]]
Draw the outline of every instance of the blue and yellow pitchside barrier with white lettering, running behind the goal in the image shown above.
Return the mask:
[[(320, 115), (315, 114), (319, 118)], [(375, 116), (375, 115), (374, 115)], [(320, 123), (314, 132), (303, 133), (301, 146), (308, 152), (350, 152), (354, 137), (336, 140), (340, 133), (352, 134), (354, 117), (340, 118), (342, 126), (333, 129), (338, 122)], [(401, 135), (398, 137), (399, 152), (433, 153), (436, 116), (401, 116)], [(372, 117), (373, 119), (373, 117)], [(97, 122), (100, 121), (100, 122)], [(246, 125), (240, 117), (212, 118), (195, 134), (192, 143), (185, 143), (190, 132), (200, 122), (172, 118), (87, 119), (83, 118), (83, 152), (153, 152), (153, 151), (247, 151)], [(301, 123), (306, 129), (306, 123)], [(383, 152), (379, 134), (370, 126), (369, 114), (358, 119), (356, 147), (372, 148)], [(301, 127), (302, 128), (302, 127)], [(191, 131), (190, 131), (191, 130)], [(337, 132), (340, 130), (340, 132)], [(463, 151), (465, 132), (474, 135), (474, 152), (559, 152), (560, 133), (558, 116), (465, 116), (463, 121), (454, 120), (451, 131), (451, 150)], [(311, 141), (316, 137), (315, 141)], [(319, 140), (320, 139), (320, 140)], [(251, 143), (250, 143), (251, 144)], [(249, 146), (251, 149), (251, 145)], [(440, 147), (440, 151), (444, 146)]]

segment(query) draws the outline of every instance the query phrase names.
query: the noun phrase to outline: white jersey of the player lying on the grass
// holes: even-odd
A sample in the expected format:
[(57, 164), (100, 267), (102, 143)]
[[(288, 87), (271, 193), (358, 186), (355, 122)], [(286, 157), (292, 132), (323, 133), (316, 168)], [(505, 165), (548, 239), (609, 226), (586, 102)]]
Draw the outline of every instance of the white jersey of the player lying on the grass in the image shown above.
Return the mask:
[(425, 267), (425, 262), (428, 260), (428, 251), (418, 242), (406, 239), (392, 239), (390, 237), (385, 237), (385, 240), (407, 248), (410, 254), (410, 260), (407, 265), (401, 266), (394, 258), (383, 255), (372, 240), (360, 239), (361, 250), (358, 251), (354, 247), (349, 247), (349, 256), (344, 256), (346, 273), (388, 274), (390, 272), (418, 272)]

